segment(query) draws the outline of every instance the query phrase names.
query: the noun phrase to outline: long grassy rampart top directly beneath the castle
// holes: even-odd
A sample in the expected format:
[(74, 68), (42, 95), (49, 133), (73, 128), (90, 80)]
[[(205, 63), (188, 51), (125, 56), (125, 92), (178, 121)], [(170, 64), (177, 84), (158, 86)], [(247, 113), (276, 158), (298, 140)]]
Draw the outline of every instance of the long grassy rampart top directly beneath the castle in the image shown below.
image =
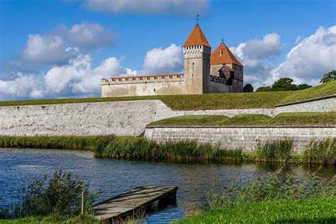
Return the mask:
[(88, 103), (106, 101), (133, 101), (159, 99), (174, 111), (216, 110), (233, 108), (274, 108), (281, 103), (291, 103), (320, 96), (336, 94), (336, 81), (298, 91), (271, 91), (237, 94), (197, 94), (167, 96), (128, 96), (86, 99), (45, 99), (34, 101), (0, 101), (0, 106), (24, 106), (57, 103)]

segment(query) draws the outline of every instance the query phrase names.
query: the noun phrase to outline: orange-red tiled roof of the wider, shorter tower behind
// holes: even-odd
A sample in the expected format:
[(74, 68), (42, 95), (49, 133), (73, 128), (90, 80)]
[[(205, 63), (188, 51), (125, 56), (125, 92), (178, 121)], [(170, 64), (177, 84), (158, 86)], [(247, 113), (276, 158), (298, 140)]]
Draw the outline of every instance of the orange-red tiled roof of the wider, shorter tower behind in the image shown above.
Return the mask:
[[(220, 55), (220, 50), (222, 54)], [(242, 65), (240, 61), (237, 60), (233, 52), (229, 50), (228, 47), (222, 42), (220, 45), (211, 53), (210, 56), (210, 65), (223, 65), (223, 64), (235, 64)]]

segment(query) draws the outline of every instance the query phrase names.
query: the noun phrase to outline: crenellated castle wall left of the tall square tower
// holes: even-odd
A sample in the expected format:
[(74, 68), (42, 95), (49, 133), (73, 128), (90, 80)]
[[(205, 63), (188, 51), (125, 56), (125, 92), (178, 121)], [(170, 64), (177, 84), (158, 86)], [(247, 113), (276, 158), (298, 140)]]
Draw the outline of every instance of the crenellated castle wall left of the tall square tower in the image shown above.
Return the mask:
[(101, 80), (102, 97), (184, 94), (184, 74)]

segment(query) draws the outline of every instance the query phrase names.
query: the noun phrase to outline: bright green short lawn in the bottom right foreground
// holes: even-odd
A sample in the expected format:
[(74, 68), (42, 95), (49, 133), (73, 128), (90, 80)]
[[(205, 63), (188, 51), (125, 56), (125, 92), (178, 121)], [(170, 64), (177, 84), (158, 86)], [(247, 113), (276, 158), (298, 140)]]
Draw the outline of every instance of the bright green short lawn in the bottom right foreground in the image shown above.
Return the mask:
[(178, 223), (335, 223), (335, 198), (264, 201), (213, 209)]

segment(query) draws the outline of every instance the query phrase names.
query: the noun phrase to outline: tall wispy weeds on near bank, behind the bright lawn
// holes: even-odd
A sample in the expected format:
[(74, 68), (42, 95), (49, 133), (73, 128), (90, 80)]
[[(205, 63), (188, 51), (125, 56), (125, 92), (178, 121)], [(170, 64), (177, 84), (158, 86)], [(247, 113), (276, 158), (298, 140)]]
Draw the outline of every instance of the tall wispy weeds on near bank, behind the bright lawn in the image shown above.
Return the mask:
[(223, 189), (214, 186), (206, 194), (211, 208), (283, 199), (336, 198), (336, 176), (323, 179), (309, 172), (301, 176), (282, 167), (276, 172), (257, 174), (244, 183), (236, 177)]

